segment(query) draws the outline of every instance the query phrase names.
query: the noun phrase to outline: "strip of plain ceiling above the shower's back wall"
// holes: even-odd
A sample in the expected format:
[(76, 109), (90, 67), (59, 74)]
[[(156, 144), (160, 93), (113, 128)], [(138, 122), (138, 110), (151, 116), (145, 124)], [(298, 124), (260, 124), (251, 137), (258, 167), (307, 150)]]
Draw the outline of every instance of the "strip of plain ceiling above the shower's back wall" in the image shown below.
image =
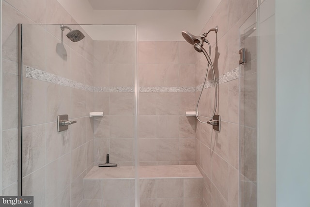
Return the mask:
[(196, 10), (200, 0), (88, 0), (98, 10)]

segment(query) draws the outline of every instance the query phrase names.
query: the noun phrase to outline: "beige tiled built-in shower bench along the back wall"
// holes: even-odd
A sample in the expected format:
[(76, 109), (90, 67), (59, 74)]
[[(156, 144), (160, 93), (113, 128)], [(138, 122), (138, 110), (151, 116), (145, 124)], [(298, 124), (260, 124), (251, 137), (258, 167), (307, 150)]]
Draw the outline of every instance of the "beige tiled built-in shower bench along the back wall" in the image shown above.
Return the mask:
[[(140, 207), (202, 207), (202, 174), (196, 165), (139, 167)], [(135, 167), (94, 166), (84, 177), (78, 207), (135, 207)]]

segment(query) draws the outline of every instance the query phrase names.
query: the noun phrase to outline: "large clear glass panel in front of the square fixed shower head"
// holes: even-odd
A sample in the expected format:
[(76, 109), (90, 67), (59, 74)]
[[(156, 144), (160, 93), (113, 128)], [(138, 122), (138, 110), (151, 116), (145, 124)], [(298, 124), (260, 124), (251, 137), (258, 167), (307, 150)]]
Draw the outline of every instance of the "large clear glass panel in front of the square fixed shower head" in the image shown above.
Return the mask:
[[(69, 40), (59, 24), (21, 26), (22, 195), (35, 207), (133, 207), (136, 27), (65, 26), (85, 38)], [(58, 132), (62, 114), (77, 122)], [(108, 154), (118, 167), (99, 168)]]

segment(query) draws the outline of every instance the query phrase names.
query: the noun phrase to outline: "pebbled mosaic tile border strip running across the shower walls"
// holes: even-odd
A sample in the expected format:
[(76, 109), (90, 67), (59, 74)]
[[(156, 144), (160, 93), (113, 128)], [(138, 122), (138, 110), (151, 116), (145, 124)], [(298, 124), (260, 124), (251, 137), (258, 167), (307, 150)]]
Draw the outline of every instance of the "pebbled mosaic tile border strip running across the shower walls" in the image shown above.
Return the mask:
[[(34, 80), (46, 81), (58, 85), (68, 86), (71, 88), (76, 88), (89, 92), (101, 92), (101, 93), (134, 93), (134, 87), (94, 87), (84, 83), (80, 83), (74, 80), (66, 79), (46, 71), (42, 71), (27, 65), (26, 67), (26, 77)], [(231, 80), (235, 80), (239, 77), (239, 68), (235, 68), (223, 75), (221, 75), (216, 81), (217, 84), (225, 83)], [(206, 82), (204, 89), (214, 86), (214, 81), (209, 80)], [(196, 92), (202, 90), (202, 84), (191, 87), (140, 87), (140, 93), (186, 93), (186, 92)]]

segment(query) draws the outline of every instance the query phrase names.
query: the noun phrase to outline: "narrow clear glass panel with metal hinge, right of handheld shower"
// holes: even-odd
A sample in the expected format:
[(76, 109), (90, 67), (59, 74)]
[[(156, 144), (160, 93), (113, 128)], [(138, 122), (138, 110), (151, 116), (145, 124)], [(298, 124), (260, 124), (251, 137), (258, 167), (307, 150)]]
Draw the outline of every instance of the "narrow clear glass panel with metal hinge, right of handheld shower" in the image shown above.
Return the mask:
[(240, 27), (240, 48), (246, 62), (240, 65), (239, 184), (240, 206), (257, 206), (257, 32), (256, 11)]

